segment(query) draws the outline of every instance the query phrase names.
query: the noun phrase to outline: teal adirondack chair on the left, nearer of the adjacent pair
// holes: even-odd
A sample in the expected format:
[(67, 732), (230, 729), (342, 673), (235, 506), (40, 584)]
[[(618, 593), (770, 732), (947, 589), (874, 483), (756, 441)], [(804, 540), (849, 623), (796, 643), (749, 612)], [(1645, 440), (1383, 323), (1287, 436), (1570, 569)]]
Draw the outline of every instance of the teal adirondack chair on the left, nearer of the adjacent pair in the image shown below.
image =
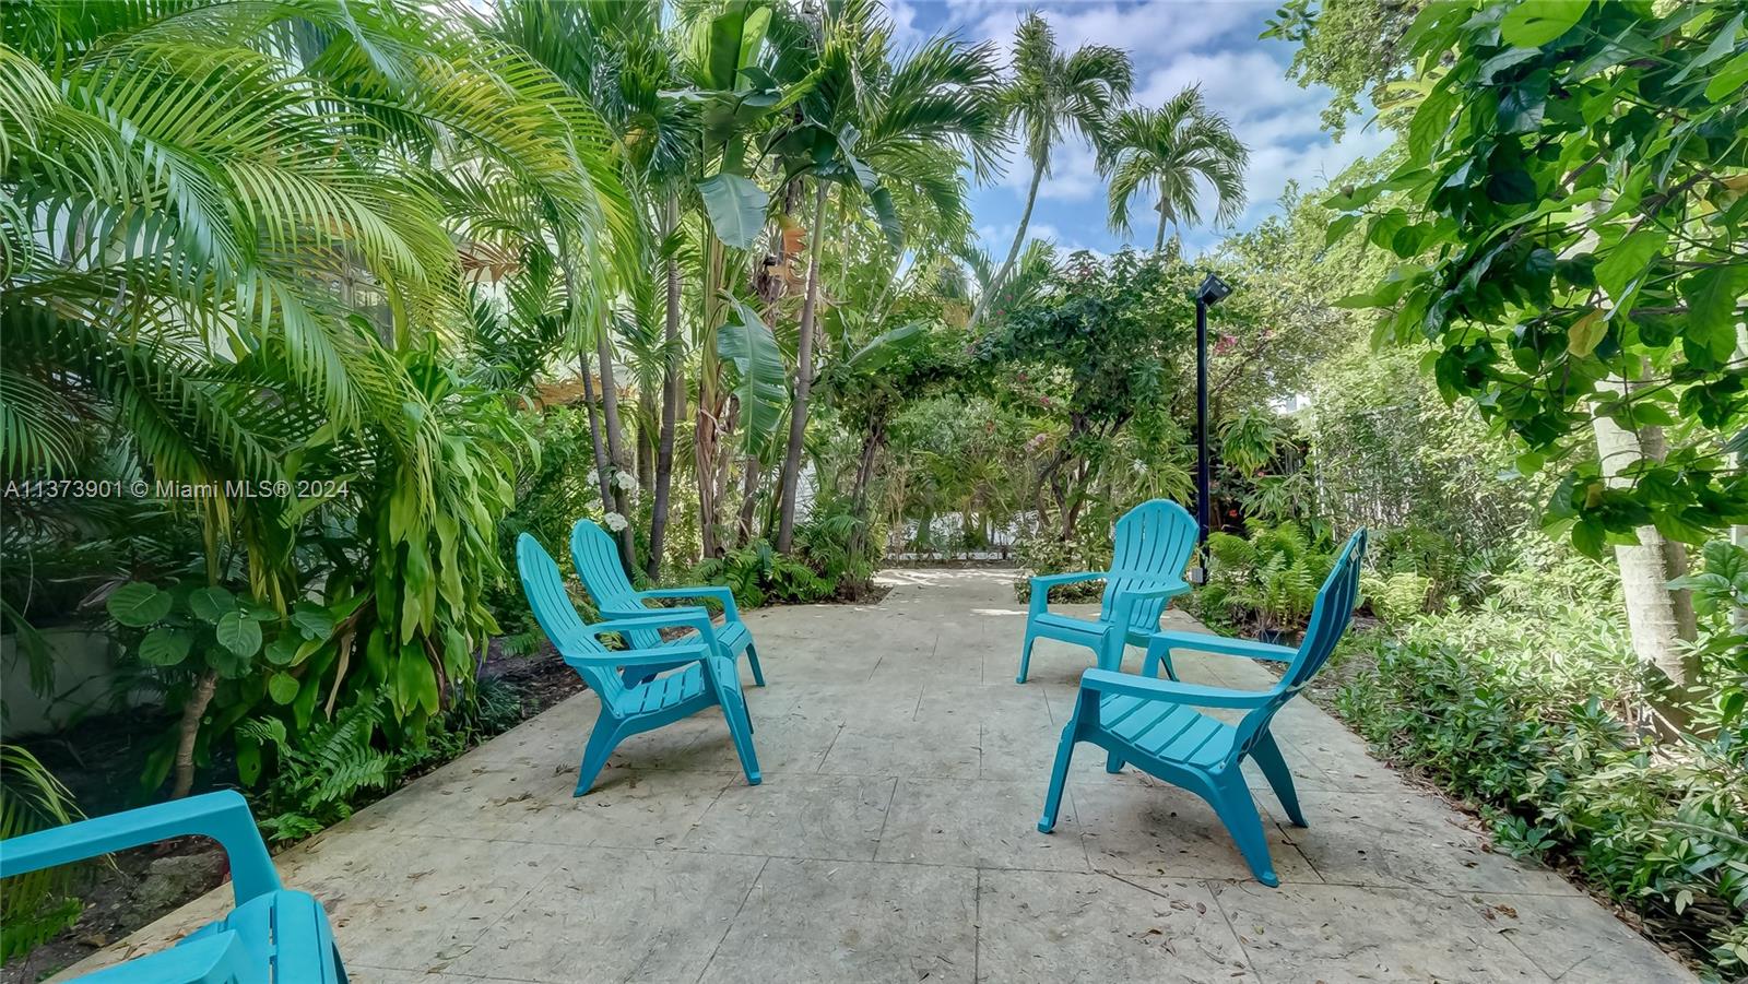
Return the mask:
[[(710, 615), (696, 608), (652, 610), (635, 619), (614, 619), (594, 626), (582, 624), (565, 579), (538, 540), (523, 533), (516, 540), (516, 568), (523, 577), (523, 594), (533, 608), (535, 620), (545, 631), (559, 655), (570, 664), (601, 699), (601, 715), (594, 720), (589, 743), (577, 769), (577, 793), (584, 795), (594, 778), (607, 767), (607, 757), (633, 734), (656, 731), (697, 711), (720, 706), (741, 757), (746, 783), (759, 785), (759, 757), (753, 753), (753, 722), (741, 697), (741, 676), (734, 669), (734, 650), (717, 634)], [(605, 634), (659, 638), (661, 629), (685, 626), (697, 634), (682, 643), (656, 648), (610, 652), (601, 645)], [(636, 643), (633, 643), (636, 645)], [(659, 669), (657, 669), (659, 668)], [(640, 682), (626, 683), (615, 669)], [(654, 671), (659, 676), (642, 678)], [(664, 673), (666, 671), (666, 673)]]

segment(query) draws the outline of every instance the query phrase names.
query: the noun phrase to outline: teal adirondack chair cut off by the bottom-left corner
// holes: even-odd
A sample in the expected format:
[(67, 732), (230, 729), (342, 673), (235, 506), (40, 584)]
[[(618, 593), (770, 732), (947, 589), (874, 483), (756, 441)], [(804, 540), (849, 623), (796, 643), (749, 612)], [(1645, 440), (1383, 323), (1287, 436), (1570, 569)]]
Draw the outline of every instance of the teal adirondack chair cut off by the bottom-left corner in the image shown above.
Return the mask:
[(236, 909), (177, 946), (79, 977), (86, 984), (344, 984), (327, 912), (313, 895), (280, 888), (248, 802), (205, 793), (80, 820), (0, 841), (0, 877), (203, 835), (231, 862)]

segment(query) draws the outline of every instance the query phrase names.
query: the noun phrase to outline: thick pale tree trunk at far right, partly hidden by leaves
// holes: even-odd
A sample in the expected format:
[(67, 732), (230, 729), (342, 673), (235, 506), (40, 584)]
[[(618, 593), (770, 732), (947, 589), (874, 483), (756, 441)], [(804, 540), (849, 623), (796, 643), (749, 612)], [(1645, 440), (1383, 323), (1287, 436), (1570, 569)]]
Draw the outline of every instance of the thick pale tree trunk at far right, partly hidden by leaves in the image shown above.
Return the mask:
[[(1603, 383), (1620, 395), (1629, 395), (1633, 386), (1610, 378)], [(1638, 432), (1619, 426), (1606, 416), (1594, 419), (1596, 454), (1603, 468), (1603, 479), (1610, 486), (1627, 486), (1631, 477), (1624, 475), (1634, 461), (1662, 460), (1668, 451), (1661, 426), (1643, 426)], [(1666, 540), (1655, 526), (1636, 530), (1638, 544), (1615, 547), (1615, 561), (1620, 565), (1620, 589), (1626, 594), (1627, 627), (1633, 633), (1633, 652), (1640, 661), (1661, 669), (1676, 687), (1694, 682), (1697, 671), (1694, 657), (1685, 652), (1683, 643), (1690, 643), (1699, 633), (1694, 617), (1694, 601), (1687, 591), (1669, 591), (1668, 582), (1687, 573), (1687, 549), (1673, 540)], [(1680, 724), (1680, 713), (1662, 708)]]

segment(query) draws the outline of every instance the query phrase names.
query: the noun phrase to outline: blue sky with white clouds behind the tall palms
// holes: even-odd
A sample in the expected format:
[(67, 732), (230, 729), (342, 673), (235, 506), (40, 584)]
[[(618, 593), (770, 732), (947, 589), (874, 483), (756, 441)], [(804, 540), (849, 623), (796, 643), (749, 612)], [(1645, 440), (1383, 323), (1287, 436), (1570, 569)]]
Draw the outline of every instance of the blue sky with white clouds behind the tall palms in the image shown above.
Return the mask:
[[(1019, 17), (1038, 9), (1065, 49), (1108, 44), (1127, 51), (1134, 61), (1136, 103), (1157, 107), (1183, 86), (1201, 84), (1208, 103), (1225, 114), (1250, 145), (1250, 208), (1238, 220), (1239, 229), (1276, 211), (1288, 180), (1320, 184), (1388, 145), (1386, 136), (1363, 128), (1365, 121), (1353, 121), (1341, 143), (1320, 129), (1328, 91), (1304, 89), (1287, 79), (1294, 45), (1257, 38), (1278, 5), (1278, 0), (888, 0), (900, 44), (954, 31), (963, 40), (995, 42), (1005, 63)], [(1007, 253), (1014, 238), (1030, 177), (1024, 159), (1010, 161), (1003, 178), (972, 192), (977, 234), (996, 259)], [(1131, 215), (1140, 217), (1133, 236), (1143, 248), (1152, 246), (1154, 236), (1145, 222), (1150, 204), (1131, 204)], [(1211, 211), (1204, 208), (1204, 215)], [(1185, 245), (1196, 253), (1222, 234), (1196, 229), (1185, 234)], [(1052, 152), (1052, 173), (1038, 191), (1028, 236), (1070, 250), (1115, 252), (1124, 245), (1106, 224), (1105, 182), (1094, 170), (1091, 147), (1066, 143)]]

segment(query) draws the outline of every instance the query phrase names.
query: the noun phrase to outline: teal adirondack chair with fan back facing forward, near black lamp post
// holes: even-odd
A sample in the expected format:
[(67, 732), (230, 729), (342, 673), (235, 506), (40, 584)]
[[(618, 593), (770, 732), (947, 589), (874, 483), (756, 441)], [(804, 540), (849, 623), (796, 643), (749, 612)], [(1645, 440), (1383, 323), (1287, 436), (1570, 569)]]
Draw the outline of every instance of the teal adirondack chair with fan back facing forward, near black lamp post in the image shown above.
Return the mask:
[[(1117, 521), (1110, 570), (1052, 573), (1031, 579), (1031, 608), (1026, 612), (1026, 643), (1019, 652), (1017, 683), (1026, 682), (1031, 643), (1040, 638), (1084, 645), (1098, 655), (1099, 669), (1122, 669), (1127, 645), (1147, 645), (1159, 631), (1166, 599), (1183, 594), (1183, 568), (1196, 551), (1196, 519), (1175, 502), (1143, 502)], [(1098, 620), (1051, 612), (1051, 589), (1059, 584), (1103, 580), (1105, 598)]]

